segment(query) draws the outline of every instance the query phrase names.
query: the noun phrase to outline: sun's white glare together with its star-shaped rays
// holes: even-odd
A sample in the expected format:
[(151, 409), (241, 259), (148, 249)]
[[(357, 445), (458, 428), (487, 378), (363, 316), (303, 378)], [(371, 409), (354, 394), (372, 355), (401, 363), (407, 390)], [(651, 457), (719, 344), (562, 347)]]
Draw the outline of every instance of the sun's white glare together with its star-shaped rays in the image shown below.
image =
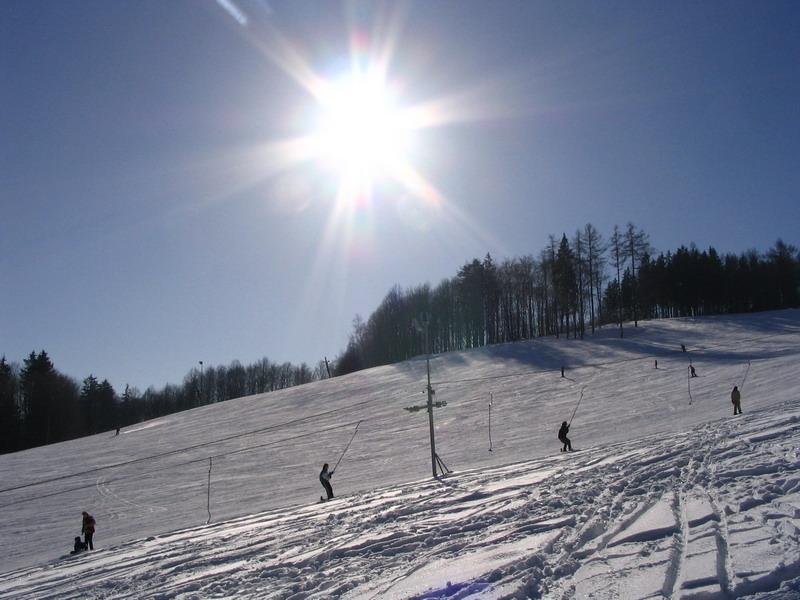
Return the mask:
[[(282, 207), (294, 203), (298, 211), (320, 203), (330, 206), (324, 230), (314, 241), (316, 259), (303, 300), (308, 306), (299, 306), (298, 314), (314, 313), (312, 299), (320, 289), (329, 290), (330, 308), (343, 308), (352, 269), (370, 260), (379, 243), (376, 236), (385, 237), (386, 232), (376, 230), (387, 221), (376, 214), (385, 217), (387, 209), (396, 213), (391, 219), (394, 228), (408, 228), (416, 235), (435, 230), (442, 243), (460, 237), (494, 247), (496, 240), (430, 178), (431, 165), (423, 163), (424, 153), (417, 150), (424, 131), (503, 116), (491, 106), (498, 90), (487, 84), (492, 93), (481, 98), (487, 86), (479, 85), (466, 93), (451, 90), (441, 98), (411, 101), (405, 92), (414, 89), (414, 73), (393, 65), (405, 24), (402, 4), (389, 14), (376, 15), (369, 30), (358, 25), (363, 15), (348, 14), (344, 41), (349, 56), (330, 56), (318, 68), (304, 58), (309, 51), (293, 45), (271, 19), (249, 18), (233, 0), (221, 6), (234, 16), (252, 47), (306, 93), (306, 106), (296, 107), (286, 119), (296, 134), (266, 140), (258, 152), (262, 180), (305, 182), (275, 185), (275, 194), (291, 188), (309, 196), (272, 202)], [(331, 64), (342, 67), (331, 70)], [(253, 161), (247, 163), (252, 171)], [(255, 171), (245, 179), (252, 184), (258, 177)]]

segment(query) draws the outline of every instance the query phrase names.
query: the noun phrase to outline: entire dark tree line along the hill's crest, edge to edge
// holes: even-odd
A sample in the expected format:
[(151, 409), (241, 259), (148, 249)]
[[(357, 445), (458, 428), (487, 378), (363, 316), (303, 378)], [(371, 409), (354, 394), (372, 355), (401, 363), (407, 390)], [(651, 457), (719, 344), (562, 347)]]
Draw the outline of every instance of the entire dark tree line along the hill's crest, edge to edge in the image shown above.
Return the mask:
[[(583, 338), (639, 319), (797, 307), (800, 254), (777, 240), (761, 254), (720, 255), (694, 245), (655, 252), (632, 223), (605, 239), (591, 224), (549, 236), (536, 255), (500, 262), (487, 254), (436, 286), (393, 287), (365, 321), (356, 316), (334, 375), (440, 353), (530, 340)], [(0, 358), (0, 453), (110, 431), (205, 404), (275, 391), (330, 376), (327, 361), (191, 369), (180, 385), (118, 394), (89, 375), (80, 384), (42, 350), (21, 366)]]

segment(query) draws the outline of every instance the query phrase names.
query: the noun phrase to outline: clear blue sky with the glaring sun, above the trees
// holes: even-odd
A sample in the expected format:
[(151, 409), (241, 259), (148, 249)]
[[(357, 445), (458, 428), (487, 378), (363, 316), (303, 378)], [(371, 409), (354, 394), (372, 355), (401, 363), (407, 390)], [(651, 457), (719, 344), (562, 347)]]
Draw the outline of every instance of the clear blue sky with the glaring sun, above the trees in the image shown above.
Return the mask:
[(587, 222), (797, 245), (798, 31), (797, 2), (4, 0), (0, 354), (143, 390), (333, 358), (392, 285)]

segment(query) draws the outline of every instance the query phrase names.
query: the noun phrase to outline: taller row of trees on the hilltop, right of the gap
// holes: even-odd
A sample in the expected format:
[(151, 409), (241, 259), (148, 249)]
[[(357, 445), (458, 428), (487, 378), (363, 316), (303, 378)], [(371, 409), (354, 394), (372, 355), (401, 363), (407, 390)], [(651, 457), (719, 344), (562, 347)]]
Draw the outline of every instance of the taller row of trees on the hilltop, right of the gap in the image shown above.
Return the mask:
[[(412, 356), (554, 335), (583, 338), (640, 318), (699, 316), (796, 307), (800, 255), (778, 240), (765, 255), (720, 256), (694, 245), (653, 258), (634, 224), (608, 240), (591, 224), (537, 256), (466, 263), (439, 285), (393, 288), (364, 321), (356, 317), (336, 373)], [(426, 336), (428, 342), (426, 345)]]

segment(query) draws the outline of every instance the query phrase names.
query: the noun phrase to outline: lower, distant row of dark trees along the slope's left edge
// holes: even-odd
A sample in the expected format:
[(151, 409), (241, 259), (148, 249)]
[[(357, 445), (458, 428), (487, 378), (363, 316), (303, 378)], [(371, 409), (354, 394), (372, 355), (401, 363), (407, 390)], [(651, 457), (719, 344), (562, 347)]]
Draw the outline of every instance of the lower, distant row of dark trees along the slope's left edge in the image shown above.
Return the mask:
[(126, 386), (118, 395), (108, 380), (89, 375), (81, 384), (60, 373), (47, 352), (31, 354), (22, 367), (0, 358), (0, 453), (50, 444), (146, 419), (275, 391), (327, 377), (324, 362), (273, 363), (264, 358), (243, 366), (195, 368), (181, 385), (140, 393)]

